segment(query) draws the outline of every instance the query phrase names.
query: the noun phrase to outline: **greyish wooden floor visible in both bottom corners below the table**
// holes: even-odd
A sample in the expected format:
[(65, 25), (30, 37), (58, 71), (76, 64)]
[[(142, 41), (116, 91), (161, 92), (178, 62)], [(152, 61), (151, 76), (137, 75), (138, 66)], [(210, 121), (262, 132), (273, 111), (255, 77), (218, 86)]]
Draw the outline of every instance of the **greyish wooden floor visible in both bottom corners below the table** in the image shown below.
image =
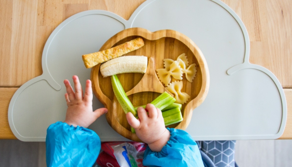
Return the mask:
[[(240, 140), (235, 145), (239, 167), (291, 167), (292, 140)], [(45, 142), (0, 140), (0, 167), (45, 167)]]

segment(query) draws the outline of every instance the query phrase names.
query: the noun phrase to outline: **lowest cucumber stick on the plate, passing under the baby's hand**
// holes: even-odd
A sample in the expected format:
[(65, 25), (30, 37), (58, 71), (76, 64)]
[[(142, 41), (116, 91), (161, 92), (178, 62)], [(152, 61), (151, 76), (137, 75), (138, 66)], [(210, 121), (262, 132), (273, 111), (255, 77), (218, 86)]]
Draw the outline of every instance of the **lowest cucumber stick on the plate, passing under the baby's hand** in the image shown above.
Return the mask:
[[(173, 108), (162, 112), (162, 117), (164, 119), (165, 126), (181, 122), (183, 116), (181, 115), (180, 108)], [(135, 129), (131, 127), (132, 133), (136, 133)]]

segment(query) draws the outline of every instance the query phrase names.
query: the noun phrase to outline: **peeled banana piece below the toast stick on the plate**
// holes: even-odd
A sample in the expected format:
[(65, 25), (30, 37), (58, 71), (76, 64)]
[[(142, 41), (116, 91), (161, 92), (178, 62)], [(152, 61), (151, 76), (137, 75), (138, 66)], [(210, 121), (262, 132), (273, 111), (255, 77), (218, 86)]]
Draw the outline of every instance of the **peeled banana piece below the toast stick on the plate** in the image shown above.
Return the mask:
[(147, 63), (146, 56), (121, 56), (101, 64), (100, 71), (103, 77), (121, 73), (145, 73)]

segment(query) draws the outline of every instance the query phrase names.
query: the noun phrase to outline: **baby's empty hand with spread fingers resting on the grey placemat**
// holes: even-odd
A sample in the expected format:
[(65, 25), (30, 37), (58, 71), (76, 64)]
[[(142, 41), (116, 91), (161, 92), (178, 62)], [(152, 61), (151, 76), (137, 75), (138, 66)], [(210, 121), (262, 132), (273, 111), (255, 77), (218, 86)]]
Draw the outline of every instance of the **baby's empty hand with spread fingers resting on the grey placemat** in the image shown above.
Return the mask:
[(93, 112), (91, 81), (86, 81), (85, 94), (83, 97), (83, 91), (78, 77), (74, 75), (72, 78), (75, 93), (70, 85), (70, 82), (67, 79), (64, 80), (67, 91), (65, 94), (65, 99), (68, 106), (64, 122), (68, 125), (73, 125), (74, 127), (77, 127), (78, 125), (87, 128), (97, 118), (108, 112), (108, 110), (106, 108), (99, 108)]

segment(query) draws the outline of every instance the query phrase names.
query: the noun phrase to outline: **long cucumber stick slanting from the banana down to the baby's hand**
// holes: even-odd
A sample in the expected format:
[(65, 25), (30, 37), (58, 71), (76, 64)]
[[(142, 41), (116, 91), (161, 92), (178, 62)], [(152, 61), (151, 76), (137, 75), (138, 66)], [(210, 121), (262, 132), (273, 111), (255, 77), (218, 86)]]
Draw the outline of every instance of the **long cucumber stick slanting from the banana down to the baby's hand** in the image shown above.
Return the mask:
[(132, 114), (136, 117), (137, 112), (134, 108), (133, 104), (129, 100), (128, 96), (126, 95), (119, 78), (116, 75), (111, 76), (111, 82), (112, 82), (112, 89), (113, 92), (116, 95), (116, 99), (122, 106), (124, 112), (127, 114), (128, 112), (132, 112)]

